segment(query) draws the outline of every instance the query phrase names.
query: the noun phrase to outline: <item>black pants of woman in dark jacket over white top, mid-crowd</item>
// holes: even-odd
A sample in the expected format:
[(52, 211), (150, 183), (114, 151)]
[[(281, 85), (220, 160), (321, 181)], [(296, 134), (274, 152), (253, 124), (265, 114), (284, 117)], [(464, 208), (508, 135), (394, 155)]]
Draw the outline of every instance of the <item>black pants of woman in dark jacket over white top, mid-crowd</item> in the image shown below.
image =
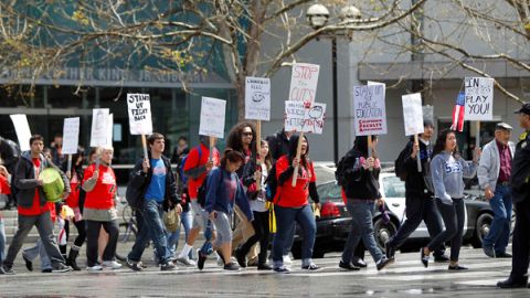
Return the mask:
[(267, 248), (268, 248), (268, 211), (265, 212), (256, 212), (254, 213), (254, 221), (252, 222), (252, 226), (254, 227), (254, 235), (250, 237), (242, 246), (241, 252), (242, 255), (248, 254), (252, 246), (259, 242), (259, 255), (257, 256), (257, 263), (263, 265), (267, 263)]

